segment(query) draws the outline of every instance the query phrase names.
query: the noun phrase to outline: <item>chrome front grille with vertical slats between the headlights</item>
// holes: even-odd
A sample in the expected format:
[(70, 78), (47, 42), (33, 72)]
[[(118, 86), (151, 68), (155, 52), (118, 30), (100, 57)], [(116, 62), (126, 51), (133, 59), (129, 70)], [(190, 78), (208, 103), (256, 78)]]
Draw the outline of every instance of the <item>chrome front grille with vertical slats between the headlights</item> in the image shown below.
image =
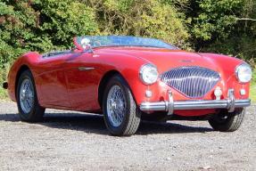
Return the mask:
[(207, 94), (219, 81), (219, 73), (202, 67), (180, 67), (161, 75), (161, 81), (191, 98)]

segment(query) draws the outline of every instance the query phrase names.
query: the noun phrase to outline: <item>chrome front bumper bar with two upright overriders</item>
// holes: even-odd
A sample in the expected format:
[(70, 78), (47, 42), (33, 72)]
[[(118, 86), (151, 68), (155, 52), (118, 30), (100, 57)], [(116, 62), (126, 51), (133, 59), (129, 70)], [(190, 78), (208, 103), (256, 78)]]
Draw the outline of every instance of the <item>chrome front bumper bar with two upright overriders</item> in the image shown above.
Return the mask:
[(251, 105), (251, 100), (235, 100), (234, 89), (228, 90), (226, 100), (199, 100), (199, 101), (177, 101), (174, 102), (172, 92), (169, 91), (169, 101), (143, 102), (140, 105), (142, 111), (167, 111), (168, 115), (174, 110), (204, 110), (204, 109), (227, 109), (229, 112), (235, 108), (244, 108)]

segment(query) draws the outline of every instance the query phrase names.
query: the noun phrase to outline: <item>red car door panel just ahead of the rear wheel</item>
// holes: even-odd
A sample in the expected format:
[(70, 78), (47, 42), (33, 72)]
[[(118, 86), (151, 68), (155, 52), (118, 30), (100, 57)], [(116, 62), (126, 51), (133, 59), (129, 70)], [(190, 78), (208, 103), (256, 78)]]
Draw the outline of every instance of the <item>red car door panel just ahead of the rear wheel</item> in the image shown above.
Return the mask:
[(71, 55), (72, 52), (42, 57), (37, 66), (40, 101), (45, 107), (70, 109), (64, 66)]

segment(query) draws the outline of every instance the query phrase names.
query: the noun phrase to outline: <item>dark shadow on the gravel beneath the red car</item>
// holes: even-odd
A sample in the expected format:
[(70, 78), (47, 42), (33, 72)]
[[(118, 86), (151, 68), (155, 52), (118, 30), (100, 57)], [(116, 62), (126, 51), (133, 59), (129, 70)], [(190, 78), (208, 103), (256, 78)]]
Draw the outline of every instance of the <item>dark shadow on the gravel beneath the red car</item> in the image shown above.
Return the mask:
[[(0, 115), (0, 120), (19, 122), (17, 114)], [(46, 113), (44, 122), (38, 125), (49, 126), (57, 129), (70, 129), (95, 134), (108, 134), (104, 125), (103, 116), (79, 113)], [(209, 127), (183, 126), (176, 123), (161, 123), (143, 121), (136, 134), (182, 134), (211, 132)]]

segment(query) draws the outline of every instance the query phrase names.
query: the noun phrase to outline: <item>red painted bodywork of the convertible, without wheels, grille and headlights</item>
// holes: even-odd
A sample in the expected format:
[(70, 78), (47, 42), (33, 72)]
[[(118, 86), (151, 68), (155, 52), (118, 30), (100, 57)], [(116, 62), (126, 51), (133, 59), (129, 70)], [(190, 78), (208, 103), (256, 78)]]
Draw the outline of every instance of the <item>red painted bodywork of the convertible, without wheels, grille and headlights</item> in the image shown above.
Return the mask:
[[(198, 66), (217, 71), (220, 80), (203, 97), (191, 98), (164, 84), (160, 78), (153, 85), (142, 83), (139, 69), (149, 62), (157, 66), (160, 75), (169, 69)], [(244, 61), (221, 54), (188, 53), (181, 50), (136, 46), (97, 47), (93, 49), (93, 53), (76, 49), (52, 57), (30, 52), (13, 63), (8, 76), (8, 92), (12, 101), (16, 102), (19, 74), (22, 69), (30, 69), (35, 79), (38, 102), (45, 108), (101, 111), (103, 88), (108, 78), (115, 73), (125, 78), (138, 106), (143, 102), (168, 101), (169, 90), (175, 102), (215, 100), (214, 90), (217, 86), (223, 92), (221, 99), (227, 99), (228, 89), (232, 88), (236, 100), (246, 100), (249, 98), (250, 83), (240, 83), (235, 77), (235, 68), (241, 63)], [(244, 89), (246, 94), (240, 94), (241, 89)], [(146, 90), (152, 91), (151, 97), (145, 96)], [(202, 116), (216, 110), (174, 112), (180, 116)]]

